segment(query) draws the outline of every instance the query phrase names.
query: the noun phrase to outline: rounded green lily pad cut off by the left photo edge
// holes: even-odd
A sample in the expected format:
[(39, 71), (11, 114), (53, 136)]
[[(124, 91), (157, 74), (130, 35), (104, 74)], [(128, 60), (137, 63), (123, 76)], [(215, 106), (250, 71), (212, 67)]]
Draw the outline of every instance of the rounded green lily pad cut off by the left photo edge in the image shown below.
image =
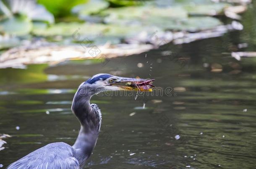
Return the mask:
[(2, 20), (0, 25), (0, 32), (12, 35), (26, 35), (33, 27), (31, 20), (26, 17), (11, 17)]

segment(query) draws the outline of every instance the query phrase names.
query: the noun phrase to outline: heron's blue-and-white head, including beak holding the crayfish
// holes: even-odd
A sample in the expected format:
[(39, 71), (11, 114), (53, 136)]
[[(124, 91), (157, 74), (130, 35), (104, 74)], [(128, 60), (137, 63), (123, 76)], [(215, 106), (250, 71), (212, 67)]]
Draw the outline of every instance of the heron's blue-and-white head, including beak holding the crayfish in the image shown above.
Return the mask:
[[(87, 81), (81, 84), (86, 87), (86, 90), (90, 89), (93, 94), (97, 94), (103, 91), (119, 91), (119, 90), (143, 90), (150, 91), (146, 79), (141, 78), (125, 78), (119, 76), (113, 76), (110, 74), (100, 73), (92, 76)], [(153, 80), (152, 80), (153, 81)], [(142, 83), (142, 84), (141, 84)], [(136, 84), (140, 84), (136, 86)], [(151, 85), (152, 86), (152, 85)]]

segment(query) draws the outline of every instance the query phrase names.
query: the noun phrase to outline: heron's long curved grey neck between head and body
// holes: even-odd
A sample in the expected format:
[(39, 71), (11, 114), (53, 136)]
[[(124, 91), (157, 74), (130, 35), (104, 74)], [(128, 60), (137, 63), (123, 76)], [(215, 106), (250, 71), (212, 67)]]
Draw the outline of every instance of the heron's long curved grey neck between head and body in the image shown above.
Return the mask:
[(85, 161), (91, 155), (99, 135), (100, 122), (97, 112), (91, 108), (90, 98), (92, 95), (79, 95), (76, 93), (72, 111), (81, 123), (81, 129), (73, 148), (82, 155), (81, 160)]

